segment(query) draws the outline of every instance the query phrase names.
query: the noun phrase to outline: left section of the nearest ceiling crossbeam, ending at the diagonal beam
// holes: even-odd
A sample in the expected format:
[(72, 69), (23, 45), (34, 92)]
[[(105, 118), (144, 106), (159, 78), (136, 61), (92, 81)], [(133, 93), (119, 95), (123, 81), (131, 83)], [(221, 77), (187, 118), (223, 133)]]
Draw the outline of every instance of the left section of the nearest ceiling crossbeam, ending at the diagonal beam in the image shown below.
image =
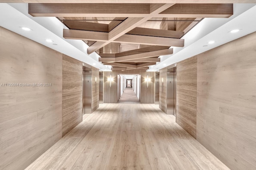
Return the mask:
[(127, 17), (127, 14), (146, 17), (150, 14), (150, 4), (28, 4), (28, 14), (34, 17)]

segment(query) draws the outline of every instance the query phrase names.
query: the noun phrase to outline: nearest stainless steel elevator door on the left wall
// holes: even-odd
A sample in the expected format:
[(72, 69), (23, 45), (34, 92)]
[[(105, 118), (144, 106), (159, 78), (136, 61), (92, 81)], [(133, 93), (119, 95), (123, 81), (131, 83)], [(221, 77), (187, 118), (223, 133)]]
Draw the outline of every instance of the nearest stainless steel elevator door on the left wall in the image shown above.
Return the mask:
[(92, 69), (83, 66), (83, 115), (92, 113)]

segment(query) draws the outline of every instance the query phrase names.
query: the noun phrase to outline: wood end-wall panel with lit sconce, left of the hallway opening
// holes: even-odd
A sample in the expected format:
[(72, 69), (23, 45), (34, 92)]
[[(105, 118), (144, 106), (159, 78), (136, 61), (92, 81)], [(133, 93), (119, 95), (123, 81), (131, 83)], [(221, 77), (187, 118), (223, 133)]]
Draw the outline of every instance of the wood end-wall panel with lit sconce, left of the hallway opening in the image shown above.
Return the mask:
[[(109, 85), (108, 78), (114, 78), (114, 81), (111, 82), (111, 87)], [(117, 103), (117, 72), (104, 72), (104, 103)]]

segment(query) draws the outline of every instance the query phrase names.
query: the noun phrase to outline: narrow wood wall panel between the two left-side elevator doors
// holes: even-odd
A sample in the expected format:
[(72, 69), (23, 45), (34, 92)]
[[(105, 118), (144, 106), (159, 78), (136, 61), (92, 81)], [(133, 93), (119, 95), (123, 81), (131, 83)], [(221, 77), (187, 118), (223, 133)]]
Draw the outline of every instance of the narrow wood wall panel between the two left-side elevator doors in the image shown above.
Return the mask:
[[(99, 69), (92, 67), (92, 112), (99, 107)], [(95, 81), (95, 78), (97, 80)]]

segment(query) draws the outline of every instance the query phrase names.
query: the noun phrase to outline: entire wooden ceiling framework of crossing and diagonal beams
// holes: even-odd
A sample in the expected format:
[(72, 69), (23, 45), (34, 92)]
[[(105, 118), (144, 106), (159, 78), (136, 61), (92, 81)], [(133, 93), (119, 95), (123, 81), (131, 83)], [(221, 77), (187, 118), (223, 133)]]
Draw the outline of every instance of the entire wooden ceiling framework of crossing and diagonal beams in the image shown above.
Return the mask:
[(32, 3), (28, 13), (58, 17), (65, 39), (83, 40), (112, 70), (148, 70), (170, 47), (184, 47), (182, 36), (202, 18), (232, 16), (233, 4)]

